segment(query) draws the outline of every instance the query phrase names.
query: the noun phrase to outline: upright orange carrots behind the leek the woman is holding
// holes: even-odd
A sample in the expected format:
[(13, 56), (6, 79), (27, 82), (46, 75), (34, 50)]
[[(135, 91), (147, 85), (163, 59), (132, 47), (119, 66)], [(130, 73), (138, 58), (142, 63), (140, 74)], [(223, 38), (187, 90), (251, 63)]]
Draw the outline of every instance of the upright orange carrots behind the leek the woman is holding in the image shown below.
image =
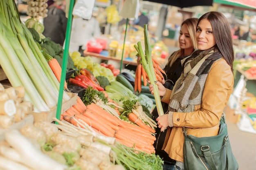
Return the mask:
[[(157, 81), (161, 82), (162, 79), (164, 79), (164, 75), (166, 75), (165, 71), (161, 68), (161, 64), (155, 60), (153, 61), (153, 67), (155, 72), (155, 77), (157, 78)], [(142, 77), (141, 77), (142, 76)], [(145, 69), (141, 64), (138, 64), (136, 70), (135, 70), (135, 82), (134, 82), (134, 91), (139, 93), (141, 92), (141, 78), (143, 79), (143, 85), (147, 86), (147, 79), (148, 74), (146, 73)]]

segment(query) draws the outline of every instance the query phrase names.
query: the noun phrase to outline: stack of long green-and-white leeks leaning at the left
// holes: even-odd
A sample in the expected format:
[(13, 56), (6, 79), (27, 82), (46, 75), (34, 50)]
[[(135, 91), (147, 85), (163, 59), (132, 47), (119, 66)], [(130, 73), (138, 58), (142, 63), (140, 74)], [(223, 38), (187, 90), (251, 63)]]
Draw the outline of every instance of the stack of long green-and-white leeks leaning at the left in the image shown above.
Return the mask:
[[(11, 85), (25, 88), (24, 101), (34, 105), (34, 112), (47, 112), (58, 103), (60, 83), (21, 22), (13, 1), (0, 1), (0, 65)], [(70, 97), (63, 93), (63, 101)]]

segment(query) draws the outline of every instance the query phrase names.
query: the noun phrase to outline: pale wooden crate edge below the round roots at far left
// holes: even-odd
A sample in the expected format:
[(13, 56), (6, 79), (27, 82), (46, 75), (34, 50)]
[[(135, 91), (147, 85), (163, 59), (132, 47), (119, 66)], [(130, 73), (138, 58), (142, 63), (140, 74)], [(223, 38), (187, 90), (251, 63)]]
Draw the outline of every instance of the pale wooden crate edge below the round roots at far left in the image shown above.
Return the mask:
[(4, 137), (5, 132), (8, 132), (9, 130), (13, 130), (13, 129), (20, 130), (20, 128), (22, 128), (26, 124), (33, 124), (33, 123), (34, 123), (33, 115), (27, 115), (24, 119), (22, 119), (22, 121), (14, 123), (8, 129), (0, 128), (0, 141), (3, 141), (5, 139)]

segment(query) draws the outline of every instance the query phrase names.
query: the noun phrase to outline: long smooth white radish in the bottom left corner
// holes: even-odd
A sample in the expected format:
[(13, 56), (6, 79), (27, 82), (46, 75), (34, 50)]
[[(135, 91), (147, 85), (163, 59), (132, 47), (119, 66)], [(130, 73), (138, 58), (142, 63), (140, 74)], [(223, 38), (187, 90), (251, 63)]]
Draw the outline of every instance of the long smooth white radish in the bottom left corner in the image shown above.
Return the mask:
[[(35, 170), (64, 170), (67, 168), (64, 164), (58, 163), (43, 154), (42, 151), (37, 150), (29, 139), (21, 135), (18, 130), (10, 130), (4, 135), (10, 146), (18, 151), (24, 165)], [(18, 168), (18, 170), (20, 169)]]

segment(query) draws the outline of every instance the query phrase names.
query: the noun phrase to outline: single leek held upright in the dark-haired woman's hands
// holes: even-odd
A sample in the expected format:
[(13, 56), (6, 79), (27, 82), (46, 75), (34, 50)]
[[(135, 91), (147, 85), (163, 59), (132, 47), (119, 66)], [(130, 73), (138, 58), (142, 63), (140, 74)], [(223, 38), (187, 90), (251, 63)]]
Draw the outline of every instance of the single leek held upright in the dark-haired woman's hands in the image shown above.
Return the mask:
[(153, 84), (153, 92), (155, 97), (155, 105), (157, 107), (157, 113), (159, 116), (164, 115), (164, 110), (162, 107), (158, 86), (154, 83), (157, 81), (155, 77), (155, 71), (153, 67), (153, 61), (151, 58), (151, 48), (148, 41), (148, 29), (147, 24), (144, 24), (144, 43), (145, 43), (145, 55), (141, 46), (141, 42), (137, 42), (137, 45), (135, 44), (134, 47), (136, 51), (138, 52), (138, 55), (141, 58), (141, 65), (143, 66), (144, 70), (148, 74), (148, 78), (151, 84)]

